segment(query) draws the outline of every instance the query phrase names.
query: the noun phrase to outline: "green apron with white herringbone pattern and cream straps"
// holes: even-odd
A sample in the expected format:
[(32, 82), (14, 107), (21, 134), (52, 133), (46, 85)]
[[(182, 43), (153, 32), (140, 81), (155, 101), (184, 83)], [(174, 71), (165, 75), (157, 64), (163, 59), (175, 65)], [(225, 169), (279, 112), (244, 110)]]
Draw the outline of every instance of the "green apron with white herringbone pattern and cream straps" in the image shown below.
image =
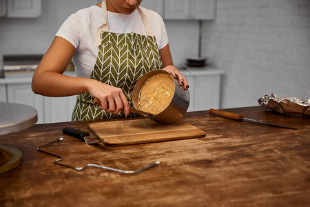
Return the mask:
[[(96, 43), (99, 54), (94, 65), (91, 79), (117, 88), (122, 88), (125, 97), (133, 108), (132, 91), (138, 79), (146, 72), (162, 68), (158, 45), (152, 35), (145, 14), (138, 8), (143, 19), (147, 35), (136, 33), (109, 32), (107, 24), (107, 8), (105, 1), (101, 3), (105, 22), (98, 29)], [(94, 105), (94, 97), (85, 92), (77, 97), (72, 121), (125, 117), (123, 111), (114, 115)], [(134, 114), (130, 114), (134, 116)]]

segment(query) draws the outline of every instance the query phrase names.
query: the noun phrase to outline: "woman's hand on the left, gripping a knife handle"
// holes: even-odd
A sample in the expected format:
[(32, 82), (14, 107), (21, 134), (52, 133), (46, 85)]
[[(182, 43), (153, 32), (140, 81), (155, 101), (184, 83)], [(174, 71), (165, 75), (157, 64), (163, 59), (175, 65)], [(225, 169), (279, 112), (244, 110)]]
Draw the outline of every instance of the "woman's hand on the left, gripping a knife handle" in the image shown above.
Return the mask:
[(101, 102), (100, 108), (113, 114), (124, 110), (125, 117), (129, 115), (129, 103), (121, 88), (101, 83), (94, 79), (87, 79), (87, 91)]

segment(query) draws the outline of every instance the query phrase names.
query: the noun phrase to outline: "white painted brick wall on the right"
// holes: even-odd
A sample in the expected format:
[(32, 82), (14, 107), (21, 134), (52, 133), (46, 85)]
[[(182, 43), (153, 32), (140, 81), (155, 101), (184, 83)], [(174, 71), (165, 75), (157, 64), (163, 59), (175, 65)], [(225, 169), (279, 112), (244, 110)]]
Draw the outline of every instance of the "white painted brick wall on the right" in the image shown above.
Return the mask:
[(217, 0), (203, 23), (203, 55), (225, 70), (222, 108), (310, 97), (310, 1)]

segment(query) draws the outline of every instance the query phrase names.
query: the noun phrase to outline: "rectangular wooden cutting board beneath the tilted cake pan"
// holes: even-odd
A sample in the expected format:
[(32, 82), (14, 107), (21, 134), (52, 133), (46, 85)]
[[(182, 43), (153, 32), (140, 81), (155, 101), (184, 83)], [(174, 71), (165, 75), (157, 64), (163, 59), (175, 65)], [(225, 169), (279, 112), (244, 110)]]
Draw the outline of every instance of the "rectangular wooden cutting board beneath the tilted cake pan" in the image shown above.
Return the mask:
[(91, 123), (89, 128), (106, 146), (205, 137), (203, 130), (182, 120), (171, 125), (161, 125), (151, 119), (104, 121)]

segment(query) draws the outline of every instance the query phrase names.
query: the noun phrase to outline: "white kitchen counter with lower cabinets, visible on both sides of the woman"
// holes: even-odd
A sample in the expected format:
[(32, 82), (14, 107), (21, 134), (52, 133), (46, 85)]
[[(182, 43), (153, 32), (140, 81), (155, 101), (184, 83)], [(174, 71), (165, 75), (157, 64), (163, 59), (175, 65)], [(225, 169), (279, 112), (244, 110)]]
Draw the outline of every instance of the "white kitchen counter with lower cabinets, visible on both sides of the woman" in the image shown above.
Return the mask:
[[(180, 72), (186, 77), (190, 86), (189, 93), (191, 101), (187, 111), (220, 108), (221, 80), (224, 75), (223, 70), (218, 70), (211, 66), (185, 67), (185, 65), (180, 65)], [(75, 76), (75, 72), (71, 70), (65, 70), (64, 74), (72, 77)], [(76, 98), (63, 98), (61, 101), (57, 101), (55, 98), (49, 98), (49, 100), (43, 101), (38, 100), (40, 98), (35, 96), (31, 89), (32, 75), (33, 71), (6, 72), (6, 78), (0, 79), (0, 101), (14, 103), (25, 103), (24, 101), (27, 101), (25, 104), (39, 111), (40, 124), (56, 121), (70, 121)], [(23, 97), (19, 98), (21, 95)], [(43, 99), (47, 98), (44, 97)], [(65, 112), (65, 110), (45, 111), (51, 107), (43, 105), (52, 103), (54, 100), (59, 103), (63, 101), (67, 112)], [(52, 103), (52, 105), (54, 105), (54, 103)], [(59, 109), (58, 106), (52, 106), (52, 108)]]

